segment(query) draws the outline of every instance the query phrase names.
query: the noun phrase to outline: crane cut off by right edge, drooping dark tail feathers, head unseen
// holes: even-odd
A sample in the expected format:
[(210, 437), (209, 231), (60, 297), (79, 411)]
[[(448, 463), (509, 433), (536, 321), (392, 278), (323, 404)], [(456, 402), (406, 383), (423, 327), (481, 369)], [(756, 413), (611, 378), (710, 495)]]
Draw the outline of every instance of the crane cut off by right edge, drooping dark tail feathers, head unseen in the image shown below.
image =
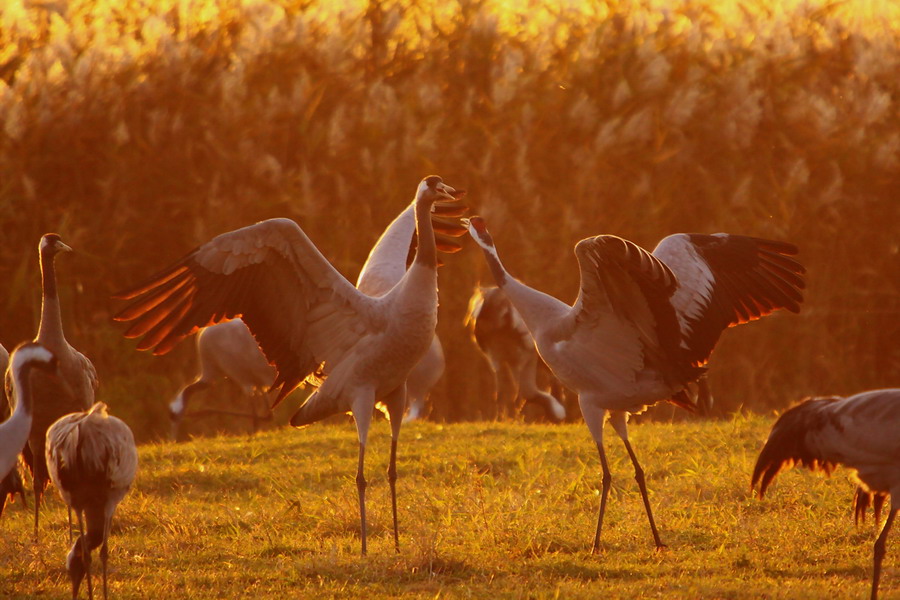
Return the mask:
[(876, 525), (885, 501), (887, 519), (873, 550), (872, 600), (878, 597), (887, 536), (900, 506), (900, 388), (854, 396), (812, 398), (785, 411), (753, 468), (751, 486), (762, 498), (782, 469), (794, 464), (830, 474), (837, 465), (854, 470), (859, 482), (853, 507), (857, 523), (871, 504)]

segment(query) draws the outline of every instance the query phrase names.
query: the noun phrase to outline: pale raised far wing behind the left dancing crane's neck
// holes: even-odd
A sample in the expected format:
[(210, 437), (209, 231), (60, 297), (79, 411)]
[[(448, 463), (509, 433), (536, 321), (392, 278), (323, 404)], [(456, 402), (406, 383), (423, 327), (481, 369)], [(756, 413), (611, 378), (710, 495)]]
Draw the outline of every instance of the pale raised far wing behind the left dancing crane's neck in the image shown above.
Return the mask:
[[(454, 197), (462, 197), (463, 190), (456, 190)], [(466, 228), (455, 217), (465, 214), (468, 207), (458, 202), (438, 200), (431, 212), (434, 241), (437, 249), (447, 254), (462, 249), (451, 238), (465, 235)], [(383, 296), (397, 285), (415, 257), (416, 214), (415, 203), (397, 215), (369, 252), (356, 280), (356, 288), (369, 296)]]

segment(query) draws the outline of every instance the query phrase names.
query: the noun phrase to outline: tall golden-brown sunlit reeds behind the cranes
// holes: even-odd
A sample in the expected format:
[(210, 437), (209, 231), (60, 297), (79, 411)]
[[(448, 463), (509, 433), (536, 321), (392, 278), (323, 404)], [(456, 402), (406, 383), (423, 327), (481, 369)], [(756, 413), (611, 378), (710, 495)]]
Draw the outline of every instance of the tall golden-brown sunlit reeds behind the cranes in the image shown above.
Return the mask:
[[(804, 310), (726, 333), (720, 415), (895, 386), (898, 73), (890, 1), (7, 0), (0, 342), (34, 336), (37, 243), (58, 231), (78, 251), (58, 265), (67, 336), (100, 399), (164, 435), (193, 345), (134, 351), (112, 292), (273, 216), (355, 280), (437, 173), (513, 274), (567, 301), (588, 235), (797, 243)], [(473, 244), (446, 262), (431, 418), (492, 418), (462, 327), (489, 274)]]

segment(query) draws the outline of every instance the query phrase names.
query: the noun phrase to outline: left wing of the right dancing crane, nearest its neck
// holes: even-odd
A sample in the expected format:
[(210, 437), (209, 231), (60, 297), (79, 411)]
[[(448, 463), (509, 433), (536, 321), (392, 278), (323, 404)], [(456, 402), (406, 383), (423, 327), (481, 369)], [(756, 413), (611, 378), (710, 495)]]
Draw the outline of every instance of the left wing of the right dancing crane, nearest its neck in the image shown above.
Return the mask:
[[(669, 373), (679, 361), (678, 322), (669, 299), (677, 287), (671, 270), (628, 240), (599, 235), (578, 242), (575, 256), (581, 290), (573, 307), (577, 337), (613, 377), (627, 376), (646, 365), (679, 380), (699, 373)], [(591, 350), (588, 350), (588, 345)]]

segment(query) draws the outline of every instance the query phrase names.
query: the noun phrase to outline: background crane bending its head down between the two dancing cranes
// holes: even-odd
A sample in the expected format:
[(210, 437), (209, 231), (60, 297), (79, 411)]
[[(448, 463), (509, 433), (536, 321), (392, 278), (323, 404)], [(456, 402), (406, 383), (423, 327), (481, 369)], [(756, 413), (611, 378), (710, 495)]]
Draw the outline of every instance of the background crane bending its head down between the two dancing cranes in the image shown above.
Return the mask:
[[(565, 420), (566, 409), (562, 403), (538, 387), (537, 370), (543, 363), (528, 327), (503, 290), (475, 288), (464, 322), (494, 374), (498, 416), (512, 416), (519, 409), (524, 410), (524, 406), (516, 405), (521, 397), (525, 404), (540, 407), (548, 421)], [(504, 385), (505, 376), (512, 379), (511, 390)]]

